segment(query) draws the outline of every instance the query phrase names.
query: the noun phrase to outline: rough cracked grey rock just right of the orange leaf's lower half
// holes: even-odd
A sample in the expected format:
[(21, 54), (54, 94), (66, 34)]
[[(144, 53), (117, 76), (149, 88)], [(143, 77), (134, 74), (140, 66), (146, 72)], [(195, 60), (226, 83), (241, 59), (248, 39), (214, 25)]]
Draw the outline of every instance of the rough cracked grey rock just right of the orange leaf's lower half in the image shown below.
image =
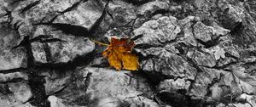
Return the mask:
[(141, 49), (138, 53), (142, 53), (143, 57), (151, 57), (143, 60), (142, 69), (153, 76), (183, 77), (193, 80), (195, 68), (190, 66), (183, 57), (175, 54), (175, 50), (172, 51), (174, 53), (170, 53), (170, 50), (167, 51), (165, 48)]

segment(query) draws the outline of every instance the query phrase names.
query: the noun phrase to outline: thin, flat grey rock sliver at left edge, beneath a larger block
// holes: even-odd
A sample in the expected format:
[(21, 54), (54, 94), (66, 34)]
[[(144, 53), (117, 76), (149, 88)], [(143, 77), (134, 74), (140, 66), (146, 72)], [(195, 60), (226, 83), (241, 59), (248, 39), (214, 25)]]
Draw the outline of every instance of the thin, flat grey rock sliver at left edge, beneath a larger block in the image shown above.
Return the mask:
[(28, 76), (26, 73), (22, 72), (14, 72), (8, 74), (0, 73), (0, 82), (12, 82), (19, 79), (27, 81)]

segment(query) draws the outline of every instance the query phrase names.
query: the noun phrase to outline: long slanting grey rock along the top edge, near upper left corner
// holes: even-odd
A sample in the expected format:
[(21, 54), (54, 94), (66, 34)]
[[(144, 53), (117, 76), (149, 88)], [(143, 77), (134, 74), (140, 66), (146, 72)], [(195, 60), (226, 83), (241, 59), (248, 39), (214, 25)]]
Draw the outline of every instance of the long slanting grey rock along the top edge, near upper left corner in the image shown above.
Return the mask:
[[(32, 20), (33, 24), (38, 24), (39, 22), (49, 22), (54, 19), (57, 15), (61, 15), (61, 12), (67, 11), (67, 8), (71, 9), (71, 7), (75, 4), (79, 3), (79, 0), (67, 0), (67, 1), (24, 1), (19, 2), (17, 7), (15, 5), (10, 5), (14, 7), (13, 17), (15, 18), (13, 21), (22, 20)], [(27, 10), (23, 10), (31, 4), (31, 8)], [(33, 5), (32, 5), (33, 4)], [(26, 17), (22, 17), (22, 15), (26, 15)], [(30, 22), (26, 22), (26, 24), (30, 24)]]

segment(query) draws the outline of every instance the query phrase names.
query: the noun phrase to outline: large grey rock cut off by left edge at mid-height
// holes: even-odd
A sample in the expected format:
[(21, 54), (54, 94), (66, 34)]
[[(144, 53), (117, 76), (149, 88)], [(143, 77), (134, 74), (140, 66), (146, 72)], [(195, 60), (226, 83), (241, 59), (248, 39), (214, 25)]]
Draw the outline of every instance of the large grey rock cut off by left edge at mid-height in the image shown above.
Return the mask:
[[(4, 22), (1, 22), (4, 23)], [(0, 25), (0, 70), (26, 68), (26, 49), (15, 48), (23, 40), (23, 37), (8, 25)]]

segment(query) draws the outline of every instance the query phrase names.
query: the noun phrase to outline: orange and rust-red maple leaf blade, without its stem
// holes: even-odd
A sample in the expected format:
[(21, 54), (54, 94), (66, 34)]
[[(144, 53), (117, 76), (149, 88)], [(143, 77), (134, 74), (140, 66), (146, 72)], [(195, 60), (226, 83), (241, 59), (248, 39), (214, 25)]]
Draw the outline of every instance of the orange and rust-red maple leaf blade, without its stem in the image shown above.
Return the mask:
[(108, 48), (102, 52), (104, 58), (108, 58), (109, 65), (116, 70), (137, 70), (138, 58), (131, 53), (135, 43), (129, 38), (111, 37)]

